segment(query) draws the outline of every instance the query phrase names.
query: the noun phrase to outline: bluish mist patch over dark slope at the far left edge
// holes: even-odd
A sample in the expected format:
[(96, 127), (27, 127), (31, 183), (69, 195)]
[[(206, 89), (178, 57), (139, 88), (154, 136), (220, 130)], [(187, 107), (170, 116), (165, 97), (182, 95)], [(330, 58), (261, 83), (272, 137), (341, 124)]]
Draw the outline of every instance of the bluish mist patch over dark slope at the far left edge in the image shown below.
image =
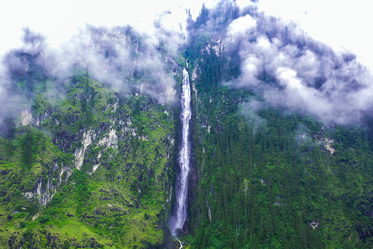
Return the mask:
[(5, 116), (15, 117), (31, 105), (32, 89), (43, 85), (48, 61), (44, 35), (23, 28), (23, 46), (9, 50), (0, 63), (0, 124)]

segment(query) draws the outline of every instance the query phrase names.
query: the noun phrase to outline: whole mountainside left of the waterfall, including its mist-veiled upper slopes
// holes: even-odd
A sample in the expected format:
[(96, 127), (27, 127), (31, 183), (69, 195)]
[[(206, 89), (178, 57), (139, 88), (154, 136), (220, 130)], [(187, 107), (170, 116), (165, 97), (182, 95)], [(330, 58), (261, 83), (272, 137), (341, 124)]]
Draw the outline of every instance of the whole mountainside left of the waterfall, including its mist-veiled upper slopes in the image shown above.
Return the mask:
[(25, 46), (5, 57), (13, 106), (1, 113), (0, 248), (174, 243), (167, 224), (180, 122), (173, 82), (182, 67), (166, 45), (157, 50), (130, 27), (87, 29), (83, 52), (94, 64), (74, 51), (76, 61), (58, 61), (28, 29)]

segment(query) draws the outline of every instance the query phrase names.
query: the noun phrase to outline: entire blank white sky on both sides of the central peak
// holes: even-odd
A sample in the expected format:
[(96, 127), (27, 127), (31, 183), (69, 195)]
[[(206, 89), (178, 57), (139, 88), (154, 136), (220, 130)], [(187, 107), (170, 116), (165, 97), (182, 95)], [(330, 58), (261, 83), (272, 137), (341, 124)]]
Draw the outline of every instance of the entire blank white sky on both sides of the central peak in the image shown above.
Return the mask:
[[(185, 10), (191, 9), (195, 19), (202, 3), (209, 7), (213, 0), (162, 0), (143, 1), (50, 1), (13, 0), (4, 1), (0, 9), (0, 54), (21, 45), (21, 28), (47, 35), (52, 47), (58, 47), (76, 33), (77, 27), (88, 22), (93, 25), (132, 24), (140, 30), (152, 31), (151, 23), (156, 14), (170, 9), (174, 15), (167, 17), (167, 23), (178, 27), (186, 18)], [(238, 0), (242, 8), (249, 0)], [(179, 7), (181, 6), (181, 7)], [(323, 41), (333, 49), (343, 48), (357, 54), (361, 63), (373, 69), (373, 49), (370, 24), (373, 23), (371, 10), (373, 2), (366, 0), (260, 0), (259, 10), (269, 15), (298, 22), (311, 37)], [(304, 12), (307, 12), (304, 13)]]

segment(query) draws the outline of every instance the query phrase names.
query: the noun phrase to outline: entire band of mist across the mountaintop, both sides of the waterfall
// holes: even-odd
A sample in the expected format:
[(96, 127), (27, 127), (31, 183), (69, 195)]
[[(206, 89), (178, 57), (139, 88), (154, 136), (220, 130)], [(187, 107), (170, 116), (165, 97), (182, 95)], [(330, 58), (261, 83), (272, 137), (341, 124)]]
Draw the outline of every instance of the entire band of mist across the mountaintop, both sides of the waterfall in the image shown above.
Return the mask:
[(220, 56), (236, 53), (240, 74), (223, 84), (256, 94), (255, 111), (250, 104), (242, 111), (249, 116), (256, 117), (258, 107), (265, 106), (257, 101), (309, 113), (324, 123), (351, 124), (372, 115), (371, 73), (353, 53), (334, 52), (294, 22), (267, 16), (255, 5), (239, 9), (232, 1), (203, 7), (195, 20), (189, 15), (185, 30), (181, 24), (163, 24), (172, 15), (169, 10), (157, 15), (152, 34), (131, 25), (87, 24), (58, 49), (43, 34), (25, 28), (23, 45), (5, 53), (0, 65), (0, 120), (31, 106), (40, 82), (46, 81), (47, 94), (61, 94), (63, 82), (77, 68), (124, 94), (174, 103), (180, 55), (200, 34), (220, 41)]

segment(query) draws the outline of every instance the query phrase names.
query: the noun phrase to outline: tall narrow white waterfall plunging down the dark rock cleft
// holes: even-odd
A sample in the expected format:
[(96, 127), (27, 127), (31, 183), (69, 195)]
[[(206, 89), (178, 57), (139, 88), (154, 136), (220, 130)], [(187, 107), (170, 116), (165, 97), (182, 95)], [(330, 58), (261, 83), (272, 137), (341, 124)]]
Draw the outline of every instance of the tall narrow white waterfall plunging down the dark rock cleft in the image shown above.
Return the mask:
[[(188, 67), (188, 66), (187, 66)], [(188, 195), (188, 175), (190, 171), (189, 156), (189, 120), (192, 110), (190, 106), (191, 93), (189, 85), (189, 74), (184, 68), (183, 70), (183, 92), (182, 92), (182, 143), (180, 151), (180, 174), (176, 175), (176, 220), (172, 226), (172, 233), (176, 235), (176, 231), (183, 227), (186, 220), (186, 200)]]

